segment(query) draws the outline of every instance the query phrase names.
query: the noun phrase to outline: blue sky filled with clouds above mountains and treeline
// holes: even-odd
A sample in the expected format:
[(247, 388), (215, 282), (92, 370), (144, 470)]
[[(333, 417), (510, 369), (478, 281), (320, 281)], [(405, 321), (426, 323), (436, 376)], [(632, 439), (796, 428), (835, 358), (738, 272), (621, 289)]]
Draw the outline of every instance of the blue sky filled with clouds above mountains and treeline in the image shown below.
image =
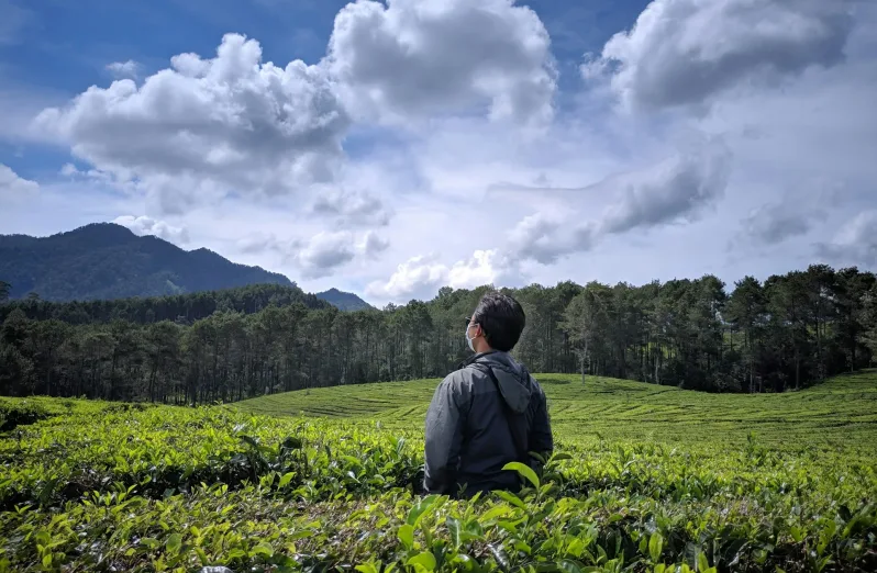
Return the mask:
[(0, 233), (115, 221), (377, 304), (877, 270), (875, 27), (856, 0), (0, 0)]

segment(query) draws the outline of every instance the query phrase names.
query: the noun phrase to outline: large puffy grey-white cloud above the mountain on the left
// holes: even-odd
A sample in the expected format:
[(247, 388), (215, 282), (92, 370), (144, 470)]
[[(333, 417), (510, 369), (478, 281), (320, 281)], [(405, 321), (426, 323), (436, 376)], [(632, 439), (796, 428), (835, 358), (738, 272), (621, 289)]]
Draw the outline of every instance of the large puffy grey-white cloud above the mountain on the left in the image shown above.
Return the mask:
[(91, 87), (36, 117), (37, 133), (131, 183), (168, 213), (227, 194), (274, 195), (331, 181), (348, 119), (323, 68), (262, 63), (255, 40), (226, 34), (217, 57), (171, 58), (137, 87)]

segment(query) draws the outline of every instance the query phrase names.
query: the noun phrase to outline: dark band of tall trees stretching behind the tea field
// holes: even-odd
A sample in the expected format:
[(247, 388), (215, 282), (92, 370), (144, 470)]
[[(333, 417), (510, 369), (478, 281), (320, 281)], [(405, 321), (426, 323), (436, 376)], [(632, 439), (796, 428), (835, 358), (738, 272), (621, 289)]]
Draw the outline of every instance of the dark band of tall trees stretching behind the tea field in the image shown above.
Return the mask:
[[(464, 318), (488, 289), (443, 288), (429, 302), (356, 312), (279, 285), (7, 301), (0, 391), (203, 404), (444, 377), (467, 356)], [(877, 280), (856, 268), (813, 265), (730, 286), (704, 276), (503, 291), (526, 312), (514, 355), (532, 372), (782, 392), (868, 367), (877, 356)]]

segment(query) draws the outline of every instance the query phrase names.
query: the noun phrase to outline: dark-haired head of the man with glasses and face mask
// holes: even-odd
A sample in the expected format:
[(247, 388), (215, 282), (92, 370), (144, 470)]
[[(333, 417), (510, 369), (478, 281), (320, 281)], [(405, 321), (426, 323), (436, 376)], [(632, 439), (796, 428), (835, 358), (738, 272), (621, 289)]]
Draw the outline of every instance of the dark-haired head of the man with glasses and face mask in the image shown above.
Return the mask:
[(489, 292), (481, 297), (466, 326), (466, 337), (473, 340), (476, 352), (500, 350), (510, 352), (526, 324), (521, 304), (499, 292)]

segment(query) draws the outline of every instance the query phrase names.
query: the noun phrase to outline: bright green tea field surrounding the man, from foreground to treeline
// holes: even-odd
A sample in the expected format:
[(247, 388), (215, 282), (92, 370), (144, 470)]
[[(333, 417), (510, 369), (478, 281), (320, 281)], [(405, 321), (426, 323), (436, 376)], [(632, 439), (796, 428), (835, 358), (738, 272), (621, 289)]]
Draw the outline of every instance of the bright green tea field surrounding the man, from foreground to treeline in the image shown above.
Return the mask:
[(519, 496), (420, 496), (436, 381), (200, 408), (0, 401), (2, 571), (875, 571), (877, 373), (779, 395), (537, 377)]

